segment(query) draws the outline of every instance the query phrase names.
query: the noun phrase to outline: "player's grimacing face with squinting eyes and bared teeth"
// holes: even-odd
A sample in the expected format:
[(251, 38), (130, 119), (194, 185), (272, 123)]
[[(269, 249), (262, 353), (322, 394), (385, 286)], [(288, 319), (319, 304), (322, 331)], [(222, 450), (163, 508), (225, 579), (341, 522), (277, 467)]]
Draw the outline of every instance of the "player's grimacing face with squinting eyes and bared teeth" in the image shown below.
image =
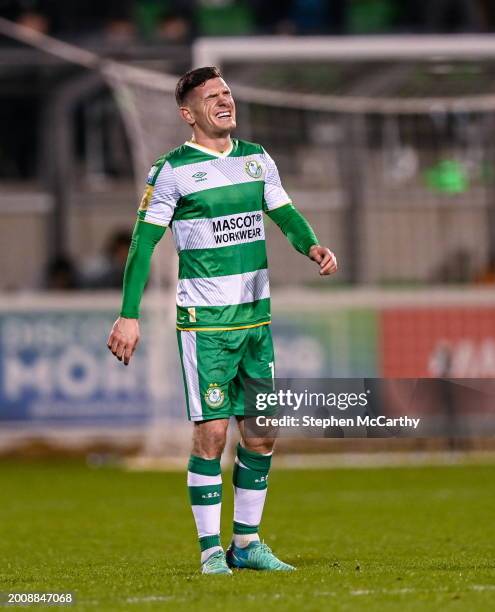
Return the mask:
[[(227, 83), (220, 77), (209, 79), (195, 87), (182, 107), (189, 125), (211, 136), (225, 136), (236, 127), (235, 102)], [(184, 112), (188, 111), (188, 112)]]

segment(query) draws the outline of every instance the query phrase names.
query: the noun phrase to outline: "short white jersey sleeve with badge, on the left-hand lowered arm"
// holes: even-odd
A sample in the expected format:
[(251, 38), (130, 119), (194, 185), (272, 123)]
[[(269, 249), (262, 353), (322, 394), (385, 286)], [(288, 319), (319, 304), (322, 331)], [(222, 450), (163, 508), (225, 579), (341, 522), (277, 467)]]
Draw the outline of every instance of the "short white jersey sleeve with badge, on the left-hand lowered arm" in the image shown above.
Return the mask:
[(139, 205), (141, 221), (166, 227), (174, 214), (180, 194), (174, 171), (169, 162), (153, 166), (146, 180), (146, 188)]

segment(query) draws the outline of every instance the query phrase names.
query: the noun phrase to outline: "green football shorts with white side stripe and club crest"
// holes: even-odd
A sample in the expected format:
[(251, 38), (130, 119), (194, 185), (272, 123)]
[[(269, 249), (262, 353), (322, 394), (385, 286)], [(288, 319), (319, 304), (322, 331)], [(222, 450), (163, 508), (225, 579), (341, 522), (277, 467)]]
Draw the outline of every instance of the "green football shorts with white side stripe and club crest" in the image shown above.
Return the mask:
[(190, 421), (244, 416), (244, 381), (274, 377), (270, 325), (177, 330), (177, 339)]

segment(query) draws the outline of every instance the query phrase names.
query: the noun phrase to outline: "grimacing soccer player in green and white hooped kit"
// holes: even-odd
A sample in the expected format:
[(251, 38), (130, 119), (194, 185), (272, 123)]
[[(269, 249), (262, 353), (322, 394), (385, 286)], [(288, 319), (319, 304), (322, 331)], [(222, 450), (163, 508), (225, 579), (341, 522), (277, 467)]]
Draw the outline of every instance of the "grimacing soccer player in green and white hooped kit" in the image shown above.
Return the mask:
[[(192, 138), (150, 170), (129, 249), (119, 318), (108, 338), (127, 365), (139, 340), (139, 305), (153, 249), (170, 226), (179, 253), (177, 338), (187, 413), (193, 421), (187, 484), (204, 574), (231, 568), (292, 570), (260, 541), (273, 439), (246, 435), (243, 381), (274, 376), (263, 215), (320, 275), (337, 270), (284, 191), (265, 149), (231, 138), (236, 109), (215, 67), (182, 76), (176, 99)], [(241, 443), (234, 466), (233, 538), (220, 543), (222, 455), (235, 417)]]

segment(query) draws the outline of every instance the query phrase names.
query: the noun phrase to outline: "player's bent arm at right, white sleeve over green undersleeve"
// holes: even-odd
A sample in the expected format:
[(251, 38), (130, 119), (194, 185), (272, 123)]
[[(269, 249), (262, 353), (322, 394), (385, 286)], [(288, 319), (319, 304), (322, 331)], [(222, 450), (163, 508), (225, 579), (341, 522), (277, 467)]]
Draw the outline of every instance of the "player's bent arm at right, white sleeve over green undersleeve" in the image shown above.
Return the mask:
[(265, 212), (276, 223), (292, 246), (320, 267), (320, 275), (337, 271), (337, 259), (330, 249), (321, 246), (307, 219), (292, 204), (282, 187), (277, 166), (264, 151), (266, 162), (264, 204)]

